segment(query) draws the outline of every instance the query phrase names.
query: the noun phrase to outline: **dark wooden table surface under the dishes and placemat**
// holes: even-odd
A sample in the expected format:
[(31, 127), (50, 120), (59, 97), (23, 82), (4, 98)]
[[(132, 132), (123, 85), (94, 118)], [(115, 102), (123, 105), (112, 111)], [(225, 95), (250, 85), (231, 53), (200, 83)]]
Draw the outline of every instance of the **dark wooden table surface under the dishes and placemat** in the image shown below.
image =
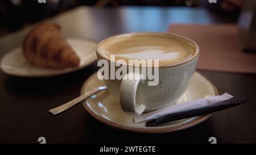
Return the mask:
[[(79, 7), (52, 19), (65, 36), (105, 37), (136, 31), (165, 32), (171, 23), (236, 23), (237, 18), (205, 9), (184, 7)], [(28, 28), (0, 38), (0, 56), (18, 47)], [(18, 78), (0, 73), (0, 143), (256, 143), (256, 104), (214, 113), (195, 127), (172, 133), (121, 131), (97, 122), (79, 104), (53, 116), (48, 110), (80, 94), (82, 83), (97, 71), (96, 63), (75, 73), (51, 78)], [(256, 75), (203, 72), (220, 93), (235, 99), (256, 99)]]

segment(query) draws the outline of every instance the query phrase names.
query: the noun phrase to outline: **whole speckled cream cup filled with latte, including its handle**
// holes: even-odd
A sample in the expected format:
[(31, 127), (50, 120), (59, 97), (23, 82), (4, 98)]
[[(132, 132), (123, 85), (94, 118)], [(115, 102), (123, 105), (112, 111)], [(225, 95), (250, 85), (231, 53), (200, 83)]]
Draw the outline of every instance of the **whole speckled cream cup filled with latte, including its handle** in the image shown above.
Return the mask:
[(174, 104), (195, 72), (199, 47), (182, 36), (126, 33), (97, 46), (98, 78), (126, 112)]

